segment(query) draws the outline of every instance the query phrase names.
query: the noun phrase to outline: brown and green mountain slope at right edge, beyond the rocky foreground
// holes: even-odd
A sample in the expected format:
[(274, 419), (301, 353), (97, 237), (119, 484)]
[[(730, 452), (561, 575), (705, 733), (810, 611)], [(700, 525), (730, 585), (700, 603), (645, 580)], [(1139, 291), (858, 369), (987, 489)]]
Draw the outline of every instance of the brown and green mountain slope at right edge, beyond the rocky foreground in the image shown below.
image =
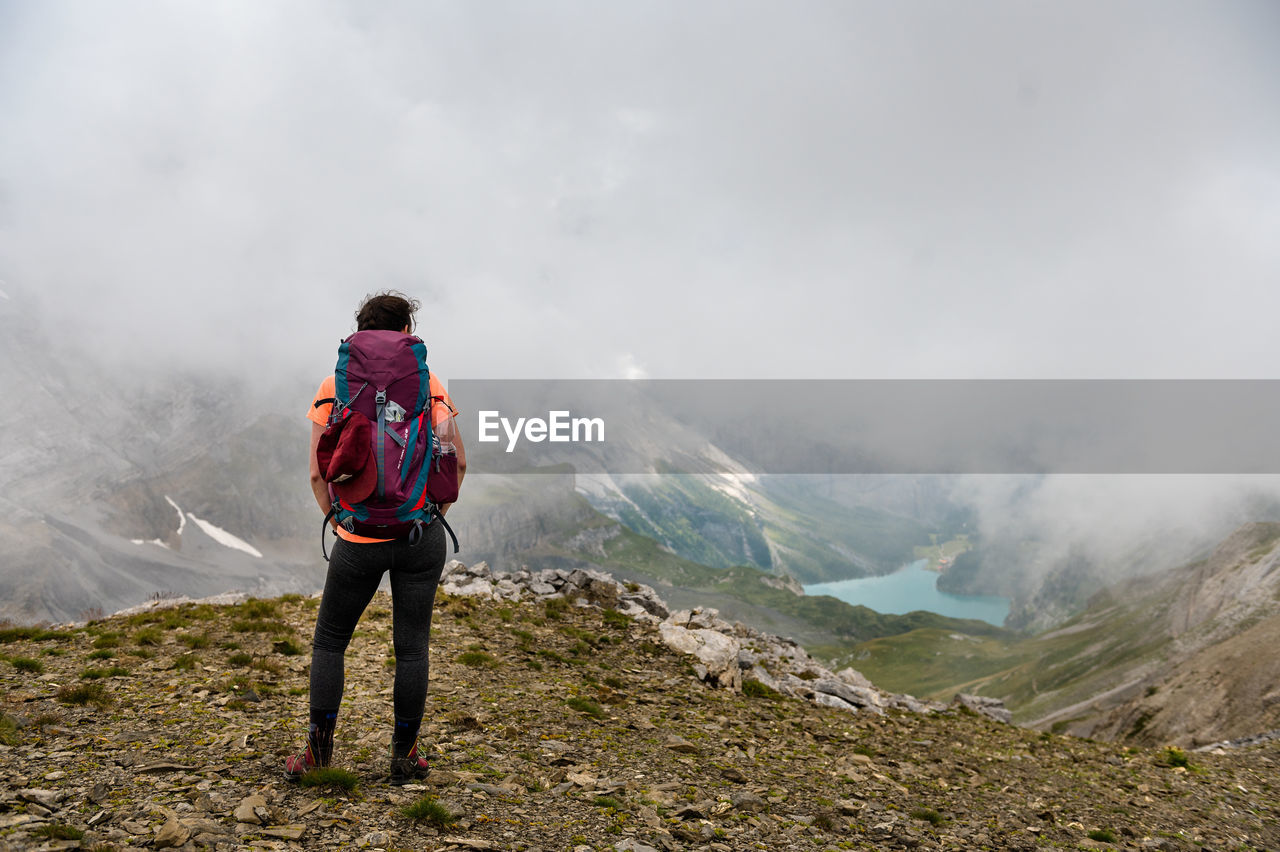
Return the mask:
[(1094, 595), (1030, 638), (918, 632), (860, 646), (878, 686), (998, 697), (1053, 730), (1202, 745), (1280, 728), (1280, 525), (1251, 523), (1201, 562)]

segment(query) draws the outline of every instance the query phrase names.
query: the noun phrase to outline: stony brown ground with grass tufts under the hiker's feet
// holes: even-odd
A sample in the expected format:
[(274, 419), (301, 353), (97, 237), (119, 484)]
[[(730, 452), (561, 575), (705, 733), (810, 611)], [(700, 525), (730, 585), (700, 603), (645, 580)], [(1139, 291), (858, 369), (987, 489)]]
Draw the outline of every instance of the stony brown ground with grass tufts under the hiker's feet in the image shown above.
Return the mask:
[(0, 849), (1280, 848), (1276, 739), (1187, 755), (858, 690), (855, 709), (829, 700), (852, 674), (780, 670), (745, 631), (746, 677), (717, 675), (634, 588), (577, 605), (463, 580), (438, 601), (417, 787), (387, 783), (383, 595), (347, 656), (349, 774), (315, 787), (282, 777), (315, 599), (0, 631)]

